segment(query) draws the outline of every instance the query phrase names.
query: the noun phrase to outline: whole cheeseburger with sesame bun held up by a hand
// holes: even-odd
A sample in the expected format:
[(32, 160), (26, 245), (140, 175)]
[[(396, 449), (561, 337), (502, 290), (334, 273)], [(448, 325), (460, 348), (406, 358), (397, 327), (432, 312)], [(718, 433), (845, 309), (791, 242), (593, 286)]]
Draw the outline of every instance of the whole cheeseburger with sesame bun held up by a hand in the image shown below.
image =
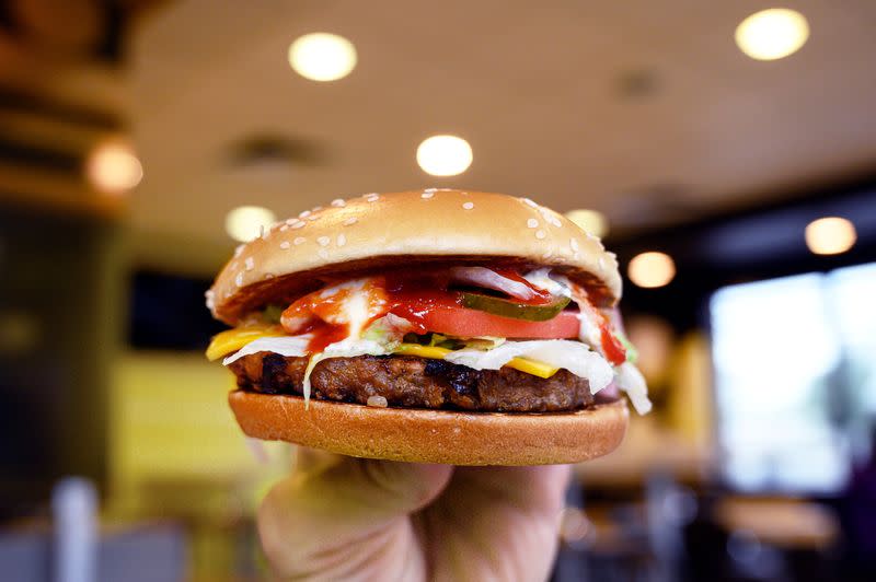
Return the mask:
[[(241, 245), (207, 292), (233, 326), (243, 432), (345, 455), (573, 463), (650, 403), (600, 241), (528, 198), (425, 189), (336, 199)], [(626, 398), (624, 397), (624, 394)]]

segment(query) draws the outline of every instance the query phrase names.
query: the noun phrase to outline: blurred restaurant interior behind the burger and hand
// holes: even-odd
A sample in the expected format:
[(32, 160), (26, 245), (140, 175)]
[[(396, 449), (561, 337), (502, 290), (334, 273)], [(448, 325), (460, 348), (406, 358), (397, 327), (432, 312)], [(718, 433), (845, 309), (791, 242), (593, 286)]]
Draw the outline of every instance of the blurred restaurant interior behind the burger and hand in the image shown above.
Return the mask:
[(876, 579), (876, 3), (783, 5), (0, 2), (3, 578), (262, 579), (290, 450), (204, 291), (275, 219), (460, 187), (626, 278), (656, 407), (554, 580)]

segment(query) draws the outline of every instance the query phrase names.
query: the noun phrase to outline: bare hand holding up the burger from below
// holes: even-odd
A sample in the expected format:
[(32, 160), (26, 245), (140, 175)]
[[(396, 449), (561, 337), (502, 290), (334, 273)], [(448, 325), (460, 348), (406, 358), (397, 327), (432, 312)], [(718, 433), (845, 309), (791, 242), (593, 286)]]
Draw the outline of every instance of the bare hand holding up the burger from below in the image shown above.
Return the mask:
[(568, 476), (300, 450), (258, 533), (281, 579), (546, 580)]

